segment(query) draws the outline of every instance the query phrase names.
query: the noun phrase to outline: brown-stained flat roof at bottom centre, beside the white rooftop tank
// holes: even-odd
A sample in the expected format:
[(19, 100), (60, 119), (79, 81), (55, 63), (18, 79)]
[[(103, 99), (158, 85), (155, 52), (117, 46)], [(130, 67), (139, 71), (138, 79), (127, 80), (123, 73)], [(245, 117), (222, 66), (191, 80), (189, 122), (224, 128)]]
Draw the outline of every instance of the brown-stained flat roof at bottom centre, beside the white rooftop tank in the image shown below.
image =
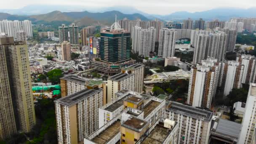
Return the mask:
[(168, 130), (170, 129), (165, 128), (163, 123), (157, 124), (153, 131), (151, 131), (151, 133), (147, 136), (146, 139), (144, 139), (141, 144), (162, 144), (171, 132)]

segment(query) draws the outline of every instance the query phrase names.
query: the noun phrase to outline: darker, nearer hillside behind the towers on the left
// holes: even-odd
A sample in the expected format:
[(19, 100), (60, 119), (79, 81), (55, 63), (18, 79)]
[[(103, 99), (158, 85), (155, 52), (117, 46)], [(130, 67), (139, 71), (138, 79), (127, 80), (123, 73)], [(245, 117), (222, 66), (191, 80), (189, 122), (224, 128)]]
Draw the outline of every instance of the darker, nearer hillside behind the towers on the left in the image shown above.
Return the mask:
[(32, 20), (34, 24), (57, 24), (59, 23), (72, 23), (75, 22), (79, 26), (88, 26), (93, 24), (104, 24), (110, 25), (115, 21), (115, 15), (117, 15), (117, 19), (130, 19), (130, 20), (149, 20), (145, 16), (142, 16), (139, 13), (135, 14), (123, 14), (119, 11), (107, 11), (104, 13), (91, 13), (88, 11), (83, 12), (61, 12), (61, 11), (53, 11), (50, 13), (32, 15), (32, 16), (18, 16), (11, 15), (8, 13), (0, 13), (0, 20), (8, 19), (8, 20), (24, 20), (29, 19)]

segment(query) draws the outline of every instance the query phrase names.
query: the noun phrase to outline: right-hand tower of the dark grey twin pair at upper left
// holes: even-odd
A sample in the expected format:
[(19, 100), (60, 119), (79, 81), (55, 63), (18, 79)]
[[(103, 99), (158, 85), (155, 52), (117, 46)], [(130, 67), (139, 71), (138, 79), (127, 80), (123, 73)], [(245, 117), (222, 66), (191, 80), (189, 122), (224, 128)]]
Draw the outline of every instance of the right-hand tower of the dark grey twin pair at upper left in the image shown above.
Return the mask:
[(79, 45), (79, 31), (75, 24), (69, 26), (69, 39), (70, 45)]

